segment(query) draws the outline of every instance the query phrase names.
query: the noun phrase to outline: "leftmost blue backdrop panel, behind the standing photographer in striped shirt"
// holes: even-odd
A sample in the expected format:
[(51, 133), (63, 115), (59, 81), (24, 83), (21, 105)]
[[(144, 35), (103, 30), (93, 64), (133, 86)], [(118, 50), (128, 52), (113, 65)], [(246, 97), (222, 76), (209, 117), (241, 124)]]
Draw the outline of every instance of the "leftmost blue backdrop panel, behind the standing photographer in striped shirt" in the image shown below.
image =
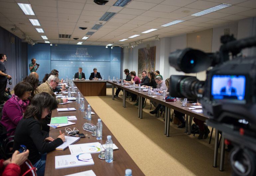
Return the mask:
[[(28, 65), (31, 63), (31, 59), (36, 58), (40, 67), (37, 70), (39, 74), (39, 80), (42, 81), (46, 73), (51, 72), (51, 48), (50, 44), (35, 44), (34, 46), (28, 45)], [(28, 74), (30, 74), (28, 66)]]

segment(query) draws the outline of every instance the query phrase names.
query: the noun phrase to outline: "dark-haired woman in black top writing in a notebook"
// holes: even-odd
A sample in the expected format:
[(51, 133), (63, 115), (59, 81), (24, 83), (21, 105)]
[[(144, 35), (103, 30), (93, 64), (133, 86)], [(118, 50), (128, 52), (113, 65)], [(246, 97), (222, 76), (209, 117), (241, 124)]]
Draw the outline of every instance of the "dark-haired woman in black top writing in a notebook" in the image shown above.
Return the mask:
[(29, 149), (28, 159), (37, 168), (38, 176), (44, 175), (46, 153), (55, 150), (65, 141), (65, 136), (61, 131), (58, 138), (53, 139), (47, 136), (49, 133), (41, 130), (41, 119), (56, 109), (57, 105), (56, 98), (48, 93), (37, 94), (16, 128), (13, 148), (18, 150), (20, 145), (25, 145)]

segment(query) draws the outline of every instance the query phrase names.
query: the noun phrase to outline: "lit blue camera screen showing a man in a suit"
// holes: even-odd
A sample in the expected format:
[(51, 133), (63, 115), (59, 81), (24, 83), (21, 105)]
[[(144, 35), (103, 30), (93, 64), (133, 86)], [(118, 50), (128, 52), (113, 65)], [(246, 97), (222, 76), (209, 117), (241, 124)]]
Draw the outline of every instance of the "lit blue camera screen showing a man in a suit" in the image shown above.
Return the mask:
[(213, 99), (244, 100), (245, 81), (243, 75), (213, 75), (211, 95)]

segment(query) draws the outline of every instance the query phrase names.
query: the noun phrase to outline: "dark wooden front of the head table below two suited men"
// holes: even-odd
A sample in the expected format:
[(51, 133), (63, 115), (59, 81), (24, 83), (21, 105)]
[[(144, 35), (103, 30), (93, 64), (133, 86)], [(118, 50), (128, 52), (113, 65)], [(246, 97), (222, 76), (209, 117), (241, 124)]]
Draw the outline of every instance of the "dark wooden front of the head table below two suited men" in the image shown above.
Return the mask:
[(73, 80), (83, 96), (106, 96), (106, 80)]

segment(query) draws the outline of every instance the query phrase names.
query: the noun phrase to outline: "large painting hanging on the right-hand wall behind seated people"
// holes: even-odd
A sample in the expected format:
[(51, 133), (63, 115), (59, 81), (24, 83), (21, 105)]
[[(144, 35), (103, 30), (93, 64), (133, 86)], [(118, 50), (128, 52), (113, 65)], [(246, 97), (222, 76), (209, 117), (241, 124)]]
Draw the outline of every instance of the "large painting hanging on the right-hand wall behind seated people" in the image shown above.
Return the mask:
[(156, 46), (152, 46), (149, 49), (140, 48), (138, 50), (138, 73), (137, 76), (142, 79), (142, 71), (155, 72), (156, 62)]

